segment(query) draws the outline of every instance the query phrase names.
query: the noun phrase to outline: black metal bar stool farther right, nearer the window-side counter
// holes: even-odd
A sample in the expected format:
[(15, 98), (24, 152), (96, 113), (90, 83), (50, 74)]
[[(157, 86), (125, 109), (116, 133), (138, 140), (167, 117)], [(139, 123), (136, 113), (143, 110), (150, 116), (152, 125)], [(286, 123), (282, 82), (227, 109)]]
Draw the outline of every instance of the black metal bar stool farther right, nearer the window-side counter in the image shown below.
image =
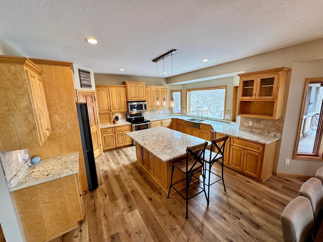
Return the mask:
[[(214, 139), (212, 140), (211, 143), (211, 147), (210, 150), (205, 150), (205, 155), (204, 155), (204, 175), (208, 174), (208, 179), (207, 179), (207, 184), (205, 184), (205, 186), (207, 186), (207, 196), (206, 196), (206, 201), (207, 204), (209, 204), (210, 200), (210, 186), (213, 185), (214, 183), (217, 183), (219, 180), (222, 180), (223, 182), (223, 187), (224, 187), (224, 191), (226, 190), (226, 185), (224, 184), (224, 178), (223, 178), (223, 167), (224, 167), (224, 151), (225, 151), (225, 147), (226, 147), (226, 142), (228, 140), (229, 136), (224, 136), (218, 139)], [(223, 142), (221, 144), (221, 142)], [(212, 165), (214, 163), (220, 163), (221, 164), (221, 168), (222, 168), (222, 173), (221, 176), (212, 172)], [(206, 165), (208, 164), (208, 169), (206, 167)], [(211, 182), (211, 174), (213, 176), (215, 176), (215, 180), (213, 180)]]

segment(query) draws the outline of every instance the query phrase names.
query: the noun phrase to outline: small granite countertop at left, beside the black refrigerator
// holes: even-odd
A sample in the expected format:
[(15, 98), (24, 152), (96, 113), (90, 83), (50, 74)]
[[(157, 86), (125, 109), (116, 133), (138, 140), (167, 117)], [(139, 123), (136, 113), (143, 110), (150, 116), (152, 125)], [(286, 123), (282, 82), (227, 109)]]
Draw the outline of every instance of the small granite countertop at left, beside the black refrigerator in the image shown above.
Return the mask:
[(32, 164), (27, 169), (23, 168), (25, 171), (18, 172), (18, 177), (16, 175), (16, 177), (8, 183), (9, 191), (16, 191), (49, 180), (75, 174), (78, 172), (78, 166), (78, 152), (43, 159), (39, 163)]

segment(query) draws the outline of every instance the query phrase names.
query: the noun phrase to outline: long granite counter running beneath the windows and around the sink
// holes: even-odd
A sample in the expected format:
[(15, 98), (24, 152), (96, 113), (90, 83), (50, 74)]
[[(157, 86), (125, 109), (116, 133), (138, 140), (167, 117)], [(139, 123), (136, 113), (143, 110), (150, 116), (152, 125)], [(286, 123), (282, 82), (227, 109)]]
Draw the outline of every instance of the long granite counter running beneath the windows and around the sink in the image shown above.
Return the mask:
[[(179, 119), (190, 119), (190, 118), (197, 118), (196, 116), (182, 116), (182, 115), (160, 115), (156, 117), (149, 117), (150, 121), (156, 120), (164, 120), (170, 118), (179, 118)], [(202, 119), (202, 118), (201, 118)], [(207, 124), (212, 127), (213, 132), (223, 133), (232, 137), (241, 138), (253, 142), (257, 142), (260, 144), (271, 144), (280, 139), (279, 133), (273, 133), (268, 131), (260, 131), (254, 129), (247, 129), (247, 128), (240, 128), (235, 123), (232, 122), (218, 122), (213, 120), (206, 120), (204, 119), (200, 124)]]

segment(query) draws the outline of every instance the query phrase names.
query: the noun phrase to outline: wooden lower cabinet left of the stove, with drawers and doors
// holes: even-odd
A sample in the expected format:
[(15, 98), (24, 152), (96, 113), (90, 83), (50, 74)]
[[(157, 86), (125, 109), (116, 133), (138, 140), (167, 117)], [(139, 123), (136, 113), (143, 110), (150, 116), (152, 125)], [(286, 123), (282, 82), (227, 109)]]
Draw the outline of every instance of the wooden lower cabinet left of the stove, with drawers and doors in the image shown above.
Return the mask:
[(132, 139), (126, 135), (130, 131), (131, 125), (101, 129), (103, 150), (131, 145)]

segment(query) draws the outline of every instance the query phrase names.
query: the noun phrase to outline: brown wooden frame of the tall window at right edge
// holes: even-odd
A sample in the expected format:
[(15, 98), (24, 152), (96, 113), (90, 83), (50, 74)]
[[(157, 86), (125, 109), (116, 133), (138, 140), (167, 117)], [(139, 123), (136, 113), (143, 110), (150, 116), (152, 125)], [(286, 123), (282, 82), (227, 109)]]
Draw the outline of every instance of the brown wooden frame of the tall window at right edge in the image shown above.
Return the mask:
[(322, 83), (323, 84), (323, 77), (321, 78), (306, 78), (305, 79), (305, 85), (304, 85), (304, 92), (303, 92), (303, 99), (302, 99), (302, 107), (301, 112), (298, 120), (298, 129), (296, 133), (296, 141), (294, 146), (294, 160), (311, 160), (311, 161), (323, 161), (323, 108), (320, 110), (320, 118), (318, 121), (317, 126), (317, 139), (315, 139), (314, 143), (314, 152), (313, 153), (298, 153), (298, 145), (300, 141), (300, 134), (302, 130), (302, 123), (303, 123), (303, 116), (305, 112), (305, 107), (307, 105), (307, 93), (308, 93), (308, 86), (309, 84), (317, 84)]

